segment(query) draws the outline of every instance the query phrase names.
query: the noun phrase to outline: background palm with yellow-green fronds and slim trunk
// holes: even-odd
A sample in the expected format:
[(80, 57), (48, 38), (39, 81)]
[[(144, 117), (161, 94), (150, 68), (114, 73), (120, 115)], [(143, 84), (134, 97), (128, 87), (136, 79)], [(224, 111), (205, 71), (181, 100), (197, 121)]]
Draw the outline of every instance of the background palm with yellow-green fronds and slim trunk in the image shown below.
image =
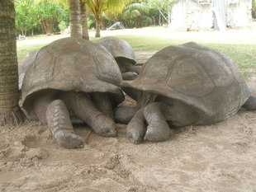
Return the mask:
[(90, 0), (86, 2), (89, 10), (94, 15), (94, 20), (96, 22), (95, 37), (101, 36), (100, 27), (102, 24), (103, 12), (116, 16), (126, 6), (126, 2), (128, 2), (128, 0)]

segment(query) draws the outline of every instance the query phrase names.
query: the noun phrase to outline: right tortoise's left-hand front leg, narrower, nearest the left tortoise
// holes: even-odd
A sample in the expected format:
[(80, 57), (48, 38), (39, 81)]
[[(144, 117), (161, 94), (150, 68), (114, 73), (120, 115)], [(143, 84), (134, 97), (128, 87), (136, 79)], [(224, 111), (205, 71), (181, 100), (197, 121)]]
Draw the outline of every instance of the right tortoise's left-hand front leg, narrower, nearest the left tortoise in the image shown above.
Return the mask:
[(146, 132), (144, 108), (138, 110), (127, 125), (126, 136), (132, 143), (140, 144)]

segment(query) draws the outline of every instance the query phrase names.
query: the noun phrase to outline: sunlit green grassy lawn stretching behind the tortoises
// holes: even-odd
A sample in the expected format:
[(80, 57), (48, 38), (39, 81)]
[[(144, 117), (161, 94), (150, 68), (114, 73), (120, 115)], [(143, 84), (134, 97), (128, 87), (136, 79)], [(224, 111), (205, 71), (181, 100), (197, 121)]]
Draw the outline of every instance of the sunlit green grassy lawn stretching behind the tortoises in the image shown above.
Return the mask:
[[(246, 68), (256, 68), (255, 34), (256, 30), (227, 30), (223, 33), (219, 31), (175, 32), (158, 27), (102, 31), (102, 37), (108, 35), (121, 37), (129, 42), (134, 50), (159, 50), (169, 45), (195, 41), (228, 54), (241, 68), (245, 76), (249, 75)], [(18, 43), (18, 60), (21, 60), (27, 53), (49, 44), (49, 40), (44, 43), (43, 38), (40, 37), (40, 39), (36, 39), (35, 44), (33, 42), (30, 44)], [(96, 41), (98, 39), (91, 38), (91, 40)]]

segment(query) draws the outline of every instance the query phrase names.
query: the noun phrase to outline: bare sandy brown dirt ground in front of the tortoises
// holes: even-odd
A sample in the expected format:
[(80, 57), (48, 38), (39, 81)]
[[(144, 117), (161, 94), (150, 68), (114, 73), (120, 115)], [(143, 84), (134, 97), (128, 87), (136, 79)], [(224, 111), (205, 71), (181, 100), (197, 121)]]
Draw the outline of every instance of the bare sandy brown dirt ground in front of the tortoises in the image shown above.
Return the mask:
[[(247, 81), (256, 87), (251, 71)], [(75, 131), (87, 145), (79, 149), (59, 148), (40, 122), (5, 126), (0, 191), (256, 192), (255, 124), (256, 111), (240, 110), (220, 124), (185, 127), (168, 141), (140, 145), (126, 138), (124, 124), (117, 124), (117, 138), (80, 125)]]

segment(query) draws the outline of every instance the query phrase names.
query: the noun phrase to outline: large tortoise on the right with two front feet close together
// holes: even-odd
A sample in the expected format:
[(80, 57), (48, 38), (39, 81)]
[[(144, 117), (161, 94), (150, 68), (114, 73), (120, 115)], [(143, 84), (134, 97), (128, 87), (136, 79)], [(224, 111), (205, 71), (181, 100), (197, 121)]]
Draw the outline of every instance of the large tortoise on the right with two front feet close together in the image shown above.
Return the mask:
[(119, 116), (137, 111), (127, 126), (133, 143), (164, 141), (169, 127), (223, 121), (241, 106), (256, 110), (256, 97), (231, 59), (192, 42), (154, 54), (122, 89), (138, 102), (135, 109), (116, 111)]

